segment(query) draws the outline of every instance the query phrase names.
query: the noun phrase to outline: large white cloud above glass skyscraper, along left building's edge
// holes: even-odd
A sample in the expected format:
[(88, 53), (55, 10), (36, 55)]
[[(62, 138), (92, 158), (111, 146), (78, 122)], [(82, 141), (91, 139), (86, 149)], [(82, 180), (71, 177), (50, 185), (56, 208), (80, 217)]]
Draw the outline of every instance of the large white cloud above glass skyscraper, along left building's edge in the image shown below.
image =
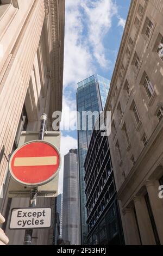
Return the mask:
[[(83, 37), (79, 0), (66, 1), (64, 87), (93, 74), (92, 56)], [(95, 67), (94, 67), (95, 68)]]

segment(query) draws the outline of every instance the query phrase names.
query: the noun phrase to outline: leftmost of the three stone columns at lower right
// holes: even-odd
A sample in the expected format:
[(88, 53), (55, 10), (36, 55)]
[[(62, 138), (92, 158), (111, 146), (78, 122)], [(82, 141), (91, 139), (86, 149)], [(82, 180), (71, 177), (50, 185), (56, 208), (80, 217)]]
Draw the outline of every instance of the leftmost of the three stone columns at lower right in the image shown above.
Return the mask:
[(137, 230), (134, 209), (126, 208), (123, 211), (125, 223), (125, 240), (126, 245), (140, 245), (139, 233)]

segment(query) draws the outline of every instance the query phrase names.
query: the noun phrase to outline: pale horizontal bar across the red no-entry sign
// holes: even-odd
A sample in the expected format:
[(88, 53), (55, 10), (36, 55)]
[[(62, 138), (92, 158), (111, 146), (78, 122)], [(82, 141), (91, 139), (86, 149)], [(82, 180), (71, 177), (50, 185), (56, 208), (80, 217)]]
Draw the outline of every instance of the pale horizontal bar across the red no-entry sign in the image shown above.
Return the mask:
[(15, 157), (14, 166), (49, 166), (57, 164), (57, 156)]

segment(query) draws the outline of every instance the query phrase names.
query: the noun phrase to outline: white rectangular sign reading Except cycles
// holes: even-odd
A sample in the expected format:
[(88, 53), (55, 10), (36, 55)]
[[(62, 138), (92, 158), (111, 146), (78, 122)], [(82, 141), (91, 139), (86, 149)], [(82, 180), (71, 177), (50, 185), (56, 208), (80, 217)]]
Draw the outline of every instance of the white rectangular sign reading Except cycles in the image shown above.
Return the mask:
[(15, 208), (11, 210), (10, 229), (51, 227), (51, 208)]

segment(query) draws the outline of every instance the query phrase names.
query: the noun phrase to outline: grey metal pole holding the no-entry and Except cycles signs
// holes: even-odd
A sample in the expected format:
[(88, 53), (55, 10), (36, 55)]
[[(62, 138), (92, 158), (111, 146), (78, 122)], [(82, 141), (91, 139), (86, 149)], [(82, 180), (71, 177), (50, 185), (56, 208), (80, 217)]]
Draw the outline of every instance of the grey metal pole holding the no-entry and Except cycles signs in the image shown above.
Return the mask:
[[(39, 139), (43, 141), (47, 115), (42, 114), (40, 119), (41, 119), (41, 125), (40, 125)], [(32, 208), (36, 207), (36, 199), (37, 199), (37, 187), (33, 188), (30, 191), (29, 207), (32, 207)], [(32, 244), (32, 233), (33, 233), (33, 229), (26, 229), (25, 236), (24, 236), (24, 245)]]

